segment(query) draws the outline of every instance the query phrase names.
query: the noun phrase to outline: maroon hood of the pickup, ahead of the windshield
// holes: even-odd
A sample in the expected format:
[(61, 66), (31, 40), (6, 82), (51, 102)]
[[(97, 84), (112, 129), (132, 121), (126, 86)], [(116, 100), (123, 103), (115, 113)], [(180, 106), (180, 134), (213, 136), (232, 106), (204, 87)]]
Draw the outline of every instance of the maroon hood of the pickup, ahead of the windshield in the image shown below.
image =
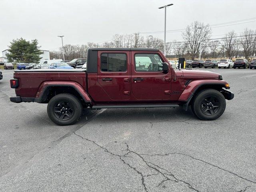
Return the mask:
[(184, 77), (219, 79), (220, 74), (202, 70), (181, 70)]

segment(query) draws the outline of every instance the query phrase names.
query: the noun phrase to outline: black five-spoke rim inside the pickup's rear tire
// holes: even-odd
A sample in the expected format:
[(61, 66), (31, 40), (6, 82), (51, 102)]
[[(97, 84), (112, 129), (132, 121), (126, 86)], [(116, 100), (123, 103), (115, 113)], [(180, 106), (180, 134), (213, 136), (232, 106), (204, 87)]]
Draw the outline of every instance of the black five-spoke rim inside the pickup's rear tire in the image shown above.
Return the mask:
[(59, 101), (54, 106), (54, 115), (60, 120), (69, 120), (74, 115), (74, 106), (66, 101)]

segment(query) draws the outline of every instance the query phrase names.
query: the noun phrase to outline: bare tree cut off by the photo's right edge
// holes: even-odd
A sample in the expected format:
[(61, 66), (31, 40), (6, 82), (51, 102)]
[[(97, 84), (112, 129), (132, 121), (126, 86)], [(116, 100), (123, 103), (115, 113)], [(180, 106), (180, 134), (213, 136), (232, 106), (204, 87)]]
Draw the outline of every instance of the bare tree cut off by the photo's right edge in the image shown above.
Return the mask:
[(244, 50), (244, 57), (248, 60), (254, 51), (256, 44), (256, 31), (248, 30), (247, 28), (241, 34), (242, 38), (240, 39), (241, 46)]

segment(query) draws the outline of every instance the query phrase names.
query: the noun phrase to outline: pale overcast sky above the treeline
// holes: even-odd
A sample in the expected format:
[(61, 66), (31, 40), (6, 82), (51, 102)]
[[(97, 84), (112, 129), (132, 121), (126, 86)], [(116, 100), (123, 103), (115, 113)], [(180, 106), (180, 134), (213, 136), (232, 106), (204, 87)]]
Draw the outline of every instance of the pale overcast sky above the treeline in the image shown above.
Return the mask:
[[(184, 29), (198, 20), (220, 24), (256, 18), (256, 0), (0, 0), (0, 51), (14, 38), (38, 39), (43, 50), (64, 44), (104, 42), (114, 34)], [(248, 21), (256, 21), (246, 20)], [(228, 31), (256, 29), (256, 22), (212, 28), (212, 38)], [(182, 40), (182, 32), (166, 33), (166, 41)], [(143, 34), (164, 38), (164, 33)], [(0, 54), (1, 56), (1, 54)]]

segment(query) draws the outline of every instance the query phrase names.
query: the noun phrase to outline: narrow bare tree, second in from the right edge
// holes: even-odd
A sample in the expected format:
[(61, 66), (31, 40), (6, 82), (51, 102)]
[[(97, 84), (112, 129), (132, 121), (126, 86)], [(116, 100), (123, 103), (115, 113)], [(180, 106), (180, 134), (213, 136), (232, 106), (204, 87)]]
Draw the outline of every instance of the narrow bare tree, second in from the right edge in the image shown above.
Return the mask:
[(234, 31), (228, 32), (224, 37), (224, 51), (226, 52), (226, 56), (231, 59), (235, 53), (236, 47), (236, 34)]

